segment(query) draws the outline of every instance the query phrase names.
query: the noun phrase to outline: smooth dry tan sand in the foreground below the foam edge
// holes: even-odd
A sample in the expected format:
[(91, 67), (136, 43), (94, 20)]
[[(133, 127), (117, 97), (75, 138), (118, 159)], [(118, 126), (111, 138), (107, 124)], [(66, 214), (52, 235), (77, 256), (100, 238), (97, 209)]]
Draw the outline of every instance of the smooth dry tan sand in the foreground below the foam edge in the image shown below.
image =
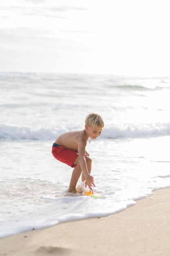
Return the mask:
[(0, 256), (170, 256), (170, 189), (103, 218), (0, 239)]

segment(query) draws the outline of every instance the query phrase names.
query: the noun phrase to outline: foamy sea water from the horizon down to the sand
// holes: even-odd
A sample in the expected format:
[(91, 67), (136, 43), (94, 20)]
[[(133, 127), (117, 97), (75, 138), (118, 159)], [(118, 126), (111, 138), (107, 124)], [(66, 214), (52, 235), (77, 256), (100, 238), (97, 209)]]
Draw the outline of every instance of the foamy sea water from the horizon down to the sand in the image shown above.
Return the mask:
[[(68, 220), (107, 216), (170, 187), (170, 79), (0, 73), (0, 237)], [(87, 145), (94, 199), (67, 193), (72, 168), (57, 162), (58, 135), (106, 126)]]

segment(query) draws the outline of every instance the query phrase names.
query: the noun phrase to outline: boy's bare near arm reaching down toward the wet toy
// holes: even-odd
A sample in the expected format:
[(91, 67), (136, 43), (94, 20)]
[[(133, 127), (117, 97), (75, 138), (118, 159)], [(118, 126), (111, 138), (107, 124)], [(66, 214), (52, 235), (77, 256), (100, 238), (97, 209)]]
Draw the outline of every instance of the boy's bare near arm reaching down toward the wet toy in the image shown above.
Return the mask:
[(85, 159), (85, 155), (86, 155), (85, 147), (86, 147), (86, 141), (79, 139), (79, 142), (78, 142), (79, 164), (84, 174), (86, 184), (88, 185), (89, 189), (93, 192), (93, 189), (91, 188), (91, 184), (93, 184), (93, 186), (95, 186), (95, 184), (94, 184), (93, 176), (91, 176), (88, 173), (86, 159)]

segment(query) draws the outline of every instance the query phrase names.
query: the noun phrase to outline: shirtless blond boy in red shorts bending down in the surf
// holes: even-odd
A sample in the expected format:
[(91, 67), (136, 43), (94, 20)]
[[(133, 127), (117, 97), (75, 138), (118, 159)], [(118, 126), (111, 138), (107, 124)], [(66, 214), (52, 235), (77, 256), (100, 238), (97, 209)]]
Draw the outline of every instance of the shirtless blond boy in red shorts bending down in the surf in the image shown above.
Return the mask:
[[(68, 192), (76, 193), (76, 184), (82, 173), (82, 181), (86, 180), (90, 191), (95, 186), (93, 176), (91, 176), (91, 159), (86, 152), (87, 141), (97, 139), (104, 128), (104, 120), (97, 113), (90, 113), (85, 120), (85, 129), (81, 131), (71, 131), (60, 135), (52, 147), (53, 156), (74, 167)], [(90, 139), (91, 138), (91, 139)], [(90, 139), (90, 140), (89, 140)]]

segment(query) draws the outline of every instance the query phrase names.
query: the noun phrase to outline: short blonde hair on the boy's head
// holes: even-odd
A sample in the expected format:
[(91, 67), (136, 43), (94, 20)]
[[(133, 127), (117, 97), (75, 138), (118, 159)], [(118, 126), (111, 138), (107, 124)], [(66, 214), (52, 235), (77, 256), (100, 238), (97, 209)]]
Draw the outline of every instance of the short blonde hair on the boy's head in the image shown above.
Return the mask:
[(104, 128), (104, 120), (101, 115), (97, 113), (90, 113), (87, 115), (85, 119), (85, 124), (87, 126), (93, 126), (93, 127), (99, 127), (99, 128)]

